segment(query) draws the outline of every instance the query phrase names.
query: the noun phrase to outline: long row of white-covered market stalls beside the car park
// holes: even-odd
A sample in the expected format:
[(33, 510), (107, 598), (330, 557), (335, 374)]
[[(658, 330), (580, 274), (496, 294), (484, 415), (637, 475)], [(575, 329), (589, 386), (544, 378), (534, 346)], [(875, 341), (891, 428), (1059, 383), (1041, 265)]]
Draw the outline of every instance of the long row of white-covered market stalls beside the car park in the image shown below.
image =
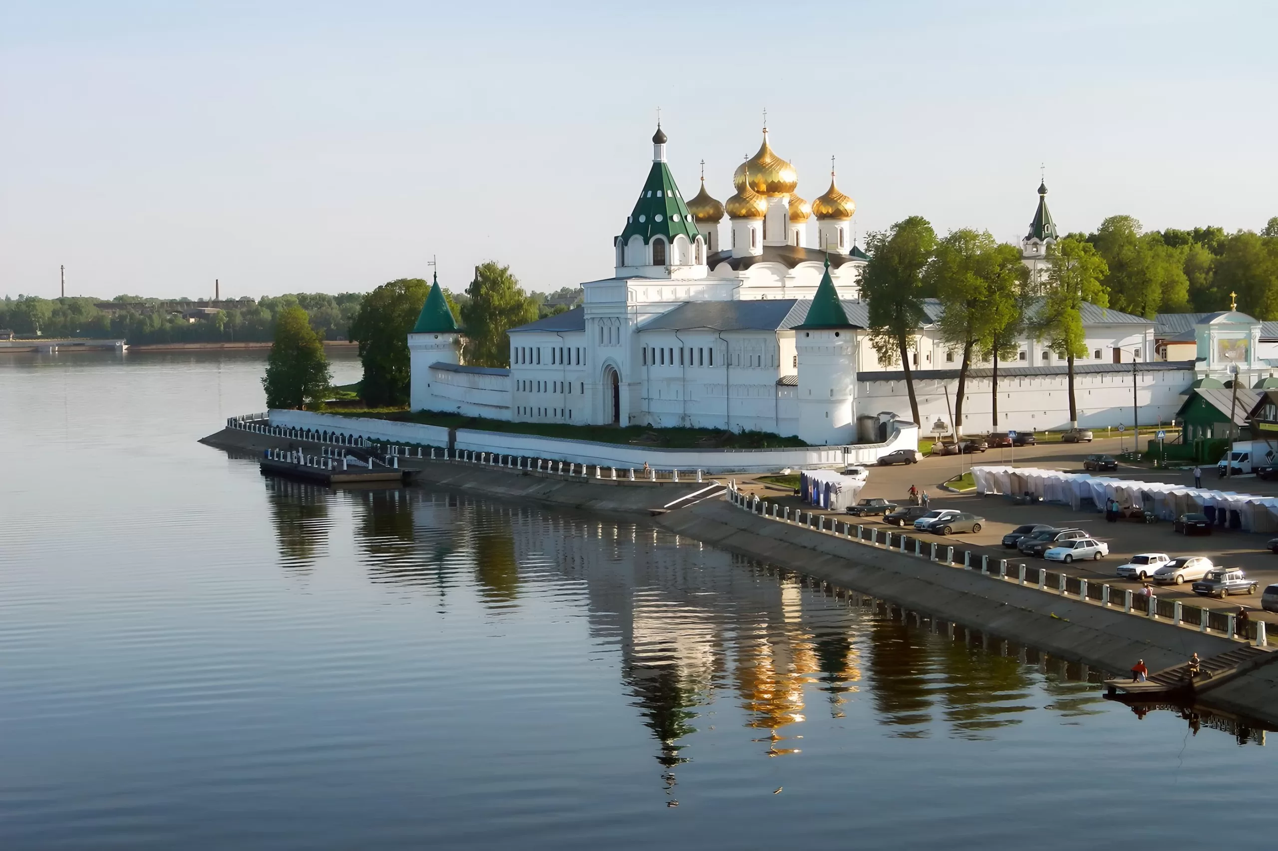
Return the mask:
[(1102, 511), (1105, 500), (1112, 498), (1122, 506), (1141, 506), (1163, 520), (1182, 514), (1205, 514), (1219, 526), (1246, 532), (1278, 530), (1278, 498), (1274, 497), (1029, 466), (974, 466), (971, 471), (976, 479), (976, 493), (982, 494), (1029, 493), (1045, 502), (1067, 505), (1075, 511)]

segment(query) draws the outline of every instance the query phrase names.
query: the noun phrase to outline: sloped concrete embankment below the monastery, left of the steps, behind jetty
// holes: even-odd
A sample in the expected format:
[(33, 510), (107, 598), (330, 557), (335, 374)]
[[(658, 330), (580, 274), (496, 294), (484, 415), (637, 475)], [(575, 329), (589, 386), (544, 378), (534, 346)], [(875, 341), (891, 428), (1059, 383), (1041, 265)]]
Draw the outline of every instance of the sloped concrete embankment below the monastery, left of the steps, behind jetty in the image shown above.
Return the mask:
[[(224, 428), (201, 441), (210, 446), (261, 452), (263, 448), (322, 446), (313, 441), (290, 440), (240, 429)], [(308, 450), (309, 451), (309, 450)], [(511, 470), (464, 461), (432, 461), (401, 457), (400, 466), (417, 471), (414, 482), (423, 487), (468, 491), (484, 496), (543, 505), (584, 509), (603, 514), (649, 516), (680, 497), (695, 493), (713, 482), (629, 482), (625, 479), (566, 479), (535, 470)]]

